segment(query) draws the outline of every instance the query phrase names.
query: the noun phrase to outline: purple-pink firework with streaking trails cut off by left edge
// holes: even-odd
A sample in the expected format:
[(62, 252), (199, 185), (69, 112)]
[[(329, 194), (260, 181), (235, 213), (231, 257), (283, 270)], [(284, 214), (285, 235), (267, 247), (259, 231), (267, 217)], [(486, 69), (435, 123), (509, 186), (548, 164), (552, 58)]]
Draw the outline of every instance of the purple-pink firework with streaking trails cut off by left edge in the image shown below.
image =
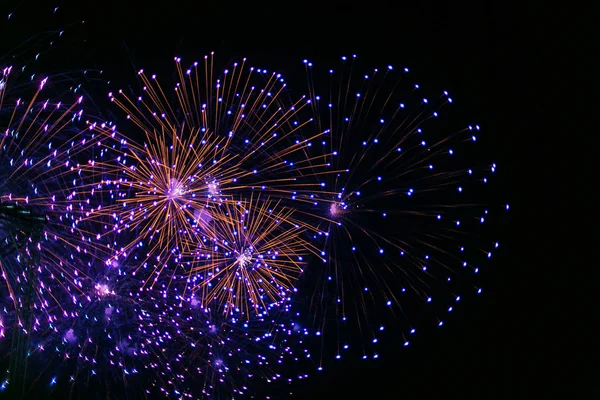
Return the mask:
[(13, 394), (25, 389), (36, 345), (58, 334), (65, 299), (82, 293), (90, 245), (80, 223), (94, 205), (80, 166), (98, 144), (81, 120), (77, 79), (34, 73), (39, 54), (25, 50), (0, 60), (0, 346), (2, 388)]

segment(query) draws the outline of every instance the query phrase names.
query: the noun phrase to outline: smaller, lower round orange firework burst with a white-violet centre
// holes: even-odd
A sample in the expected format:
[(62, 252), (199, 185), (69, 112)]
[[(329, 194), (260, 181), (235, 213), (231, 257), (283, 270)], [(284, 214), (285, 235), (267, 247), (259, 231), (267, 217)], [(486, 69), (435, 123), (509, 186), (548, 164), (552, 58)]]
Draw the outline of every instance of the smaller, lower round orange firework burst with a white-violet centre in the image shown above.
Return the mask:
[(255, 198), (218, 207), (208, 249), (196, 253), (190, 270), (201, 279), (194, 291), (225, 313), (245, 315), (289, 300), (305, 257), (317, 252), (305, 229), (291, 222), (293, 212), (278, 201)]

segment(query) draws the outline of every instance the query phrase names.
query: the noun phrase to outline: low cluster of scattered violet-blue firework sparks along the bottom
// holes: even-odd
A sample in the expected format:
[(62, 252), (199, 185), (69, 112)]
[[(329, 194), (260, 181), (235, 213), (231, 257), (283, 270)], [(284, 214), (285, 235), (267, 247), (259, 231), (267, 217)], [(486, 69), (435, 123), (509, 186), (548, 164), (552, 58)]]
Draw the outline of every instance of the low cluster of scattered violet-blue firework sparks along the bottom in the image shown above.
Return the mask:
[[(71, 391), (103, 390), (189, 398), (252, 393), (278, 382), (284, 361), (297, 358), (305, 331), (279, 322), (289, 307), (253, 315), (203, 306), (181, 285), (140, 290), (131, 274), (139, 248), (119, 263), (90, 265), (79, 282), (85, 295), (69, 299), (56, 334), (37, 344), (40, 381)], [(50, 360), (55, 368), (48, 368)], [(260, 383), (262, 382), (262, 383)]]

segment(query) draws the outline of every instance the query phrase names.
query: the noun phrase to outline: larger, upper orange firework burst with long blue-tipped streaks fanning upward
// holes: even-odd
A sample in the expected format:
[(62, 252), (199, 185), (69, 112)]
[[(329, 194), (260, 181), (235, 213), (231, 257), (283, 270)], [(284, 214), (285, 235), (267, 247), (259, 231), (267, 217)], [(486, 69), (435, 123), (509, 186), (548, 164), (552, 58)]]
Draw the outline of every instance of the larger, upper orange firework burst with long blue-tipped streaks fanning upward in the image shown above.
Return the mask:
[[(306, 153), (321, 133), (303, 137), (301, 129), (310, 118), (297, 120), (307, 102), (304, 97), (288, 101), (279, 74), (247, 67), (244, 59), (215, 80), (212, 56), (186, 71), (179, 59), (176, 64), (175, 101), (155, 75), (143, 70), (142, 96), (110, 94), (143, 132), (145, 144), (123, 142), (116, 163), (91, 166), (112, 177), (99, 186), (115, 198), (96, 214), (111, 216), (117, 230), (135, 232), (129, 247), (141, 243), (148, 255), (140, 268), (150, 256), (156, 260), (147, 283), (170, 260), (183, 261), (202, 241), (210, 221), (228, 223), (214, 206), (255, 190), (272, 198), (308, 192), (318, 183), (306, 178), (323, 166), (322, 155)], [(116, 129), (94, 128), (109, 136)]]

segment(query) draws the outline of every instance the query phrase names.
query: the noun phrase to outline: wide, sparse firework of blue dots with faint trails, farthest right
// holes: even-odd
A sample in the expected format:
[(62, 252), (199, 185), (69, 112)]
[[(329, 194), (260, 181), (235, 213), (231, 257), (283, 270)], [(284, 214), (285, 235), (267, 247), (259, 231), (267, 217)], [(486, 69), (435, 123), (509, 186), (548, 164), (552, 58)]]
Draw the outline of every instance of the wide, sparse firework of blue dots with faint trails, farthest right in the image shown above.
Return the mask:
[(338, 359), (357, 337), (357, 356), (377, 358), (389, 324), (408, 345), (424, 314), (443, 325), (430, 303), (451, 312), (461, 296), (480, 293), (472, 276), (498, 247), (482, 229), (504, 208), (485, 196), (497, 166), (472, 149), (480, 127), (449, 117), (448, 92), (428, 98), (408, 69), (357, 64), (343, 57), (319, 71), (305, 61), (314, 122), (305, 135), (324, 132), (307, 154), (321, 153), (333, 173), (314, 174), (319, 190), (286, 203), (324, 249), (298, 289), (310, 298), (323, 357)]

